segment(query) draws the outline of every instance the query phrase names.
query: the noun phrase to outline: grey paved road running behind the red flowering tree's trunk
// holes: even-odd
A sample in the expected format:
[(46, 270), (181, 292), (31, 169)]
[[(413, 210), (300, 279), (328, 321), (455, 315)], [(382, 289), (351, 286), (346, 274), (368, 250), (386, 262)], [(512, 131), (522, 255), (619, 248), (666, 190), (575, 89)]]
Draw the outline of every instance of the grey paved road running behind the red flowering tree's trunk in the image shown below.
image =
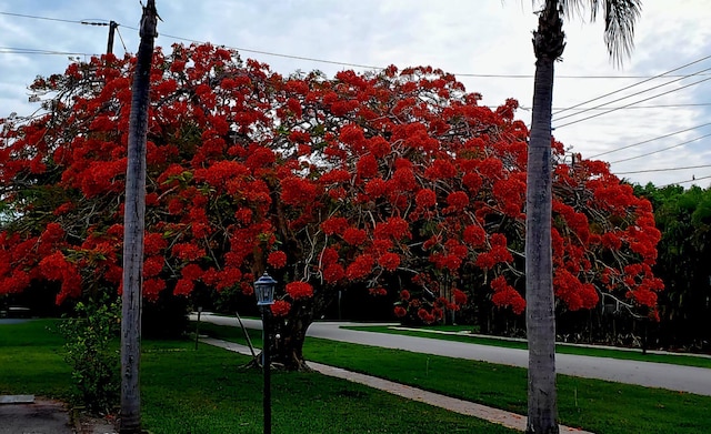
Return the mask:
[[(192, 316), (192, 319), (194, 320), (197, 316)], [(237, 319), (226, 316), (203, 314), (201, 320), (221, 325), (237, 326), (238, 324)], [(242, 321), (248, 329), (261, 329), (261, 321), (259, 320)], [(318, 322), (311, 324), (307, 335), (511, 366), (528, 366), (528, 352), (525, 350), (502, 349), (428, 337), (361, 332), (341, 329), (341, 325), (363, 324)], [(608, 380), (711, 396), (711, 370), (709, 369), (572, 354), (557, 354), (555, 365), (558, 373), (563, 375)]]

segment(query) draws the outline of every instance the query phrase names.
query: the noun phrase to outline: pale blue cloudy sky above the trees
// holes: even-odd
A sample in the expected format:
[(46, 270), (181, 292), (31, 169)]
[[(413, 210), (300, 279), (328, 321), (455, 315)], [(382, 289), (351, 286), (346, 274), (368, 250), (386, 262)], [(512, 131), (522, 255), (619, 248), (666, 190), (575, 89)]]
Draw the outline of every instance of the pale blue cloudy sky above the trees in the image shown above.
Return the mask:
[[(431, 65), (454, 73), (485, 105), (517, 99), (517, 115), (530, 123), (539, 1), (156, 3), (162, 19), (157, 44), (167, 51), (173, 43), (211, 42), (282, 74)], [(34, 77), (63, 72), (70, 58), (104, 52), (111, 20), (119, 24), (113, 52), (136, 52), (140, 17), (139, 0), (0, 0), (0, 118), (37, 109), (27, 91)], [(589, 18), (564, 21), (567, 47), (553, 88), (555, 139), (571, 153), (610, 162), (613, 173), (633, 183), (710, 186), (708, 0), (643, 0), (634, 50), (621, 67), (608, 55), (603, 22)]]

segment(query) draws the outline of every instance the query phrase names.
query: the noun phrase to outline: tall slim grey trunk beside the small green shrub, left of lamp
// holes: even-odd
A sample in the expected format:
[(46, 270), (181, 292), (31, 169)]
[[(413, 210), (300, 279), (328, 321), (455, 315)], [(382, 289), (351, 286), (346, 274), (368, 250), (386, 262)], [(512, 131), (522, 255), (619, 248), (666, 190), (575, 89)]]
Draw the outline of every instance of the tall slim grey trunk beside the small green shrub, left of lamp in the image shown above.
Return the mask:
[(141, 432), (139, 369), (141, 359), (141, 287), (146, 225), (146, 135), (153, 42), (158, 37), (156, 1), (141, 18), (129, 119), (128, 168), (123, 216), (123, 295), (121, 309), (121, 434)]

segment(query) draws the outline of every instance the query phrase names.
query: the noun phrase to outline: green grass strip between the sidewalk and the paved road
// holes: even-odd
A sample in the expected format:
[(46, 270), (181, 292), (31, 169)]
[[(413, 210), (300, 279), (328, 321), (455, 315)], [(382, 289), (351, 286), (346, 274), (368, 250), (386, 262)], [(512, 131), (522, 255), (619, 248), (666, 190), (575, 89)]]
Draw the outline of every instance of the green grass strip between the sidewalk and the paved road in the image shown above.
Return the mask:
[[(201, 332), (243, 343), (237, 327)], [(254, 345), (261, 332), (250, 331)], [(308, 339), (308, 360), (525, 414), (524, 369)], [(711, 397), (559, 375), (561, 423), (598, 434), (711, 433)]]

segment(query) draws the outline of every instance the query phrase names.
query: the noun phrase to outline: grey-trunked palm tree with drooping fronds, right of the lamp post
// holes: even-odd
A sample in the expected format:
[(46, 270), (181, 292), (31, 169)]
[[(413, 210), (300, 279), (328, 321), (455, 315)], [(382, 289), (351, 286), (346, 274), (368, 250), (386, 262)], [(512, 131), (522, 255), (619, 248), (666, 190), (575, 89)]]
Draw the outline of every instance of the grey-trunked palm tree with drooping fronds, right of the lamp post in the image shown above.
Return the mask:
[(604, 16), (604, 41), (620, 63), (633, 47), (641, 0), (545, 0), (533, 32), (535, 78), (528, 155), (525, 219), (525, 296), (529, 340), (529, 418), (527, 433), (558, 433), (555, 397), (555, 313), (551, 251), (551, 111), (553, 64), (563, 53), (562, 17), (589, 8), (591, 20)]

